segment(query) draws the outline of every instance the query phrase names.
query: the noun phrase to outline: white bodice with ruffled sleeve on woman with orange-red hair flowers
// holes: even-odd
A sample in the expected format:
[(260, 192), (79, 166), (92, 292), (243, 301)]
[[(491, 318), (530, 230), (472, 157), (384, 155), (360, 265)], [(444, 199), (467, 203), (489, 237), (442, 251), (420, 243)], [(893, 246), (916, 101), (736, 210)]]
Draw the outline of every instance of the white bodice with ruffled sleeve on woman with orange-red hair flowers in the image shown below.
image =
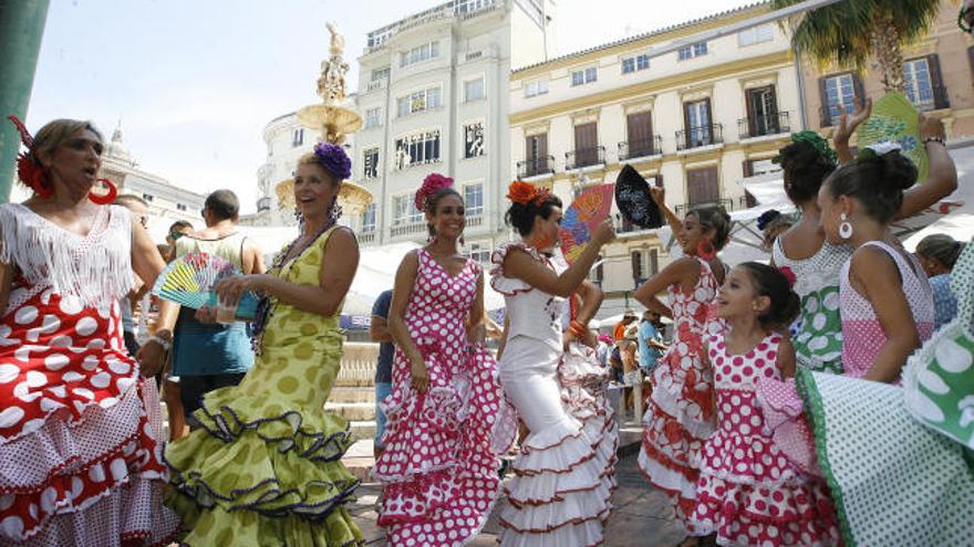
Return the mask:
[(522, 242), (500, 245), (490, 256), (495, 266), (490, 270), (490, 286), (504, 295), (508, 320), (507, 337), (526, 336), (541, 340), (560, 350), (562, 345), (561, 322), (567, 298), (548, 294), (521, 280), (504, 275), (504, 259), (511, 249), (521, 249), (536, 261), (558, 273), (556, 265), (537, 250)]

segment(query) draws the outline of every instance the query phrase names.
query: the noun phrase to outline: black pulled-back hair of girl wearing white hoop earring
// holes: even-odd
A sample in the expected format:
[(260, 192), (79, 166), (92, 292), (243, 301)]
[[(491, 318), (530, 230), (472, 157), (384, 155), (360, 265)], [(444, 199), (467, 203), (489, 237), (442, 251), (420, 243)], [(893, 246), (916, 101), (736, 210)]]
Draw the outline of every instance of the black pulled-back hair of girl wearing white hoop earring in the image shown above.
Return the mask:
[(832, 199), (858, 198), (866, 213), (887, 223), (903, 206), (903, 190), (916, 181), (916, 166), (899, 150), (883, 155), (860, 156), (839, 168), (828, 180)]

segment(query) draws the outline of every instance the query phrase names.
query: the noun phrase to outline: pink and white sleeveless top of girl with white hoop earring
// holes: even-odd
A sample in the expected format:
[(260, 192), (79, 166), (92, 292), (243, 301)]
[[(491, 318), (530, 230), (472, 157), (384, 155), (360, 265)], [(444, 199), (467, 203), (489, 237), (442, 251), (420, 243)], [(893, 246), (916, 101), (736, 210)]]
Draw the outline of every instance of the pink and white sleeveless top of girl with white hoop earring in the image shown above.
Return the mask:
[[(926, 276), (920, 276), (916, 271), (920, 264), (911, 256), (911, 264), (895, 249), (882, 241), (870, 241), (866, 245), (877, 246), (889, 254), (897, 263), (900, 278), (903, 282), (903, 293), (910, 304), (913, 320), (916, 323), (916, 332), (920, 340), (928, 340), (933, 334), (934, 307), (933, 293)], [(880, 349), (888, 337), (883, 330), (872, 304), (852, 287), (849, 281), (849, 270), (852, 264), (850, 257), (842, 266), (839, 277), (839, 299), (842, 306), (842, 362), (846, 366), (846, 375), (852, 378), (862, 378), (872, 366)]]

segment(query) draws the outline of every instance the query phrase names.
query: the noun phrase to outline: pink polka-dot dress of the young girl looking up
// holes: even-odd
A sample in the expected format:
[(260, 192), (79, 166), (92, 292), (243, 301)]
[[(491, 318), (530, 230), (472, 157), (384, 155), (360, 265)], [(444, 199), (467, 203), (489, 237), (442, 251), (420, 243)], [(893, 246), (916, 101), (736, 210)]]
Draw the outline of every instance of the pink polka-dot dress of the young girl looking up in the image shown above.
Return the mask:
[(764, 432), (755, 385), (780, 378), (778, 335), (746, 355), (728, 355), (723, 336), (709, 341), (717, 392), (717, 430), (697, 454), (695, 529), (721, 545), (835, 545), (838, 528), (825, 483), (805, 476)]

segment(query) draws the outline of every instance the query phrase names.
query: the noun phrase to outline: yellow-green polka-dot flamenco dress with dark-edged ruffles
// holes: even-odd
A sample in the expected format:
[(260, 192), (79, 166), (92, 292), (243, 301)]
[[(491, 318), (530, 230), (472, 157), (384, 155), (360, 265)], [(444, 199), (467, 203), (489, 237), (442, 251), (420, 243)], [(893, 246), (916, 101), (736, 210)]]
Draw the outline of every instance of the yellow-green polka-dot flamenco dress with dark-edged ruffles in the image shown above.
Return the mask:
[[(318, 284), (328, 230), (269, 273)], [(348, 423), (324, 411), (342, 355), (341, 307), (331, 317), (274, 301), (253, 368), (206, 396), (204, 428), (169, 444), (167, 502), (190, 546), (363, 545), (345, 511), (359, 485), (341, 457)]]

